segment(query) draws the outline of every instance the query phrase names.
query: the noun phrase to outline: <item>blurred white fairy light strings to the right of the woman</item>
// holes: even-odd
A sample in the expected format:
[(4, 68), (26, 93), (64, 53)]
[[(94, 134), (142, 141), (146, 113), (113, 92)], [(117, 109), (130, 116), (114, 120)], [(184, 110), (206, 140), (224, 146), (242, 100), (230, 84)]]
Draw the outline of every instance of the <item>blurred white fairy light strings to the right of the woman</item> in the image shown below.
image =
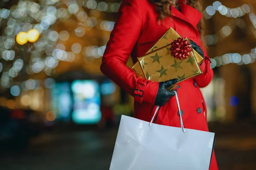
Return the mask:
[[(210, 19), (216, 14), (216, 12), (219, 12), (223, 16), (233, 18), (233, 20), (230, 20), (226, 26), (223, 26), (218, 33), (205, 36), (207, 45), (215, 45), (219, 40), (223, 40), (224, 38), (228, 37), (236, 26), (244, 28), (245, 22), (241, 17), (243, 17), (245, 14), (248, 14), (250, 17), (250, 21), (254, 28), (250, 29), (250, 31), (253, 31), (253, 35), (256, 38), (256, 15), (253, 13), (253, 6), (250, 4), (244, 4), (237, 8), (228, 8), (222, 5), (219, 1), (215, 1), (212, 3), (212, 6), (207, 6), (203, 12), (203, 16), (206, 19)], [(211, 59), (211, 68), (229, 63), (236, 63), (238, 65), (250, 64), (255, 62), (255, 60), (256, 48), (253, 48), (249, 54), (228, 53), (220, 57), (214, 57)]]

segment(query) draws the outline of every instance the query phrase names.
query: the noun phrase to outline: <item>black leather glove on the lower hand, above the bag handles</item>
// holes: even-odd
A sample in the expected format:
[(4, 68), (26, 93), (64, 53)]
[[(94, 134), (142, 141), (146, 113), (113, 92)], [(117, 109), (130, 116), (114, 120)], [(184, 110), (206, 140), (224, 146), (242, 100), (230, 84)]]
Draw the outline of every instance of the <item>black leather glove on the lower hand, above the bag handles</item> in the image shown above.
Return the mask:
[(169, 101), (169, 99), (175, 96), (174, 91), (167, 91), (166, 88), (174, 85), (177, 81), (178, 79), (171, 79), (165, 82), (159, 82), (159, 88), (154, 105), (163, 106)]

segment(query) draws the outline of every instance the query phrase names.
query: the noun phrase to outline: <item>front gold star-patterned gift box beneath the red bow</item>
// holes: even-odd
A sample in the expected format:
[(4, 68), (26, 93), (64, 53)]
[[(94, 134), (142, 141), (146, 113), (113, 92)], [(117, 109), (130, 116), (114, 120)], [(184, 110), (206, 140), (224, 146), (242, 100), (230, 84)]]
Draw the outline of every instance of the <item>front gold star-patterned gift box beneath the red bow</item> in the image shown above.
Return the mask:
[[(186, 59), (180, 60), (171, 55), (171, 47), (172, 45), (166, 45), (138, 58), (144, 79), (154, 82), (178, 79), (178, 82), (182, 82), (183, 80), (203, 74), (193, 52), (190, 52), (189, 57)], [(173, 88), (175, 88), (175, 85), (168, 88), (168, 90)]]

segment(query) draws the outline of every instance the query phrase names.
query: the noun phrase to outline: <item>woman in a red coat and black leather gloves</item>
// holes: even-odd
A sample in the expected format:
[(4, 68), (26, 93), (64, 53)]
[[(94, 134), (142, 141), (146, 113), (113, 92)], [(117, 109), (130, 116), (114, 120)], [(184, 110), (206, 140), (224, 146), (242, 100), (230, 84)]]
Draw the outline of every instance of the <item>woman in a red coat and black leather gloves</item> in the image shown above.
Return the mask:
[[(126, 62), (131, 55), (133, 62), (143, 56), (170, 28), (182, 37), (188, 37), (198, 51), (206, 50), (201, 42), (203, 23), (201, 0), (124, 0), (119, 8), (115, 27), (102, 58), (101, 71), (127, 93), (134, 96), (134, 117), (150, 121), (156, 105), (162, 106), (156, 123), (180, 127), (180, 119), (174, 92), (166, 87), (177, 80), (152, 82), (136, 77)], [(201, 48), (195, 44), (201, 46)], [(204, 72), (193, 79), (180, 82), (177, 92), (186, 128), (208, 130), (207, 111), (199, 88), (206, 87), (213, 77), (209, 59), (201, 64)], [(215, 154), (212, 155), (210, 170), (218, 170)]]

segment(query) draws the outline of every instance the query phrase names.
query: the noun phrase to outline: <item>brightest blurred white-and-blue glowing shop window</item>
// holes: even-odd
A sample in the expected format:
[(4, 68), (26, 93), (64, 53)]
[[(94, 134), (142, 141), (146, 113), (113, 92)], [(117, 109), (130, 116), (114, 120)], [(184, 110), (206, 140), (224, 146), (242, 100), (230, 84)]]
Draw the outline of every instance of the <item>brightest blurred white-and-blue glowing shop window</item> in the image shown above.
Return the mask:
[(73, 92), (72, 120), (76, 124), (96, 124), (101, 119), (100, 85), (95, 80), (75, 80)]

